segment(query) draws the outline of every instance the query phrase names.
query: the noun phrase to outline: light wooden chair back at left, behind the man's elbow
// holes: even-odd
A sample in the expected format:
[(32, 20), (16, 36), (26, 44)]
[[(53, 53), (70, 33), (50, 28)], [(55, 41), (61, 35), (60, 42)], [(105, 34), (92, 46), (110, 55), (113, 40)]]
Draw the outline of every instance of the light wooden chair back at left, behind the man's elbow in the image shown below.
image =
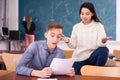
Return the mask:
[(6, 66), (6, 69), (9, 71), (15, 71), (16, 65), (19, 62), (23, 54), (12, 54), (12, 53), (2, 53), (2, 59)]

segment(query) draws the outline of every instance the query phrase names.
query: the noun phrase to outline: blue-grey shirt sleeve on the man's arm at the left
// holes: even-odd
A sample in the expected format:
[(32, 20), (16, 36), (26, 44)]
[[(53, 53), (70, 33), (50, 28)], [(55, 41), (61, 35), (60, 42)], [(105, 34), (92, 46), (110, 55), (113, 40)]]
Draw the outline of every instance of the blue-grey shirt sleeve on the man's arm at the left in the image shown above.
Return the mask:
[(29, 68), (27, 64), (31, 61), (34, 55), (35, 43), (31, 43), (30, 46), (27, 48), (25, 53), (23, 54), (21, 60), (19, 61), (16, 67), (16, 73), (21, 75), (30, 76), (32, 72), (32, 68)]

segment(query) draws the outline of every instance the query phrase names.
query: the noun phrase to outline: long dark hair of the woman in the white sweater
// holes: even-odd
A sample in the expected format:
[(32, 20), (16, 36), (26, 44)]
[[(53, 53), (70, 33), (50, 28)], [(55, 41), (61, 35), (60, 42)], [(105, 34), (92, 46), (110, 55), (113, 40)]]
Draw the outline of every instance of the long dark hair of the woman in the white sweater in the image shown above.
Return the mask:
[(94, 8), (94, 5), (91, 3), (91, 2), (85, 2), (83, 3), (81, 6), (80, 6), (80, 10), (79, 10), (79, 15), (81, 14), (81, 9), (82, 8), (87, 8), (89, 9), (94, 15), (92, 16), (92, 19), (95, 21), (95, 22), (101, 22), (98, 17), (97, 17), (97, 14), (95, 12), (95, 8)]

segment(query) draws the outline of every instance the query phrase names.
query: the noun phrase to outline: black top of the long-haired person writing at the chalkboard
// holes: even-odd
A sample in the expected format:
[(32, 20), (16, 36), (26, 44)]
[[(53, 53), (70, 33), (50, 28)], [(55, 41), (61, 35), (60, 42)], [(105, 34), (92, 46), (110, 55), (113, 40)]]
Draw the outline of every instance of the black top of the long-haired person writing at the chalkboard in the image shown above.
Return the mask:
[(31, 22), (31, 26), (30, 26), (30, 29), (28, 30), (27, 29), (27, 22), (26, 21), (22, 21), (22, 24), (25, 28), (25, 32), (27, 34), (34, 34), (35, 33), (35, 23), (34, 22)]

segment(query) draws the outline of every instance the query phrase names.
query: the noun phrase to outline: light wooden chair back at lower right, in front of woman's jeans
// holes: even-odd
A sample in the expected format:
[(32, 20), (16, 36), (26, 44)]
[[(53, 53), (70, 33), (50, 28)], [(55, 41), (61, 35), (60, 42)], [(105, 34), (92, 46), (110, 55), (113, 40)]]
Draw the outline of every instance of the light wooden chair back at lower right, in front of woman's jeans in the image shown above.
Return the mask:
[(81, 74), (86, 76), (120, 77), (120, 67), (85, 65), (81, 68)]

